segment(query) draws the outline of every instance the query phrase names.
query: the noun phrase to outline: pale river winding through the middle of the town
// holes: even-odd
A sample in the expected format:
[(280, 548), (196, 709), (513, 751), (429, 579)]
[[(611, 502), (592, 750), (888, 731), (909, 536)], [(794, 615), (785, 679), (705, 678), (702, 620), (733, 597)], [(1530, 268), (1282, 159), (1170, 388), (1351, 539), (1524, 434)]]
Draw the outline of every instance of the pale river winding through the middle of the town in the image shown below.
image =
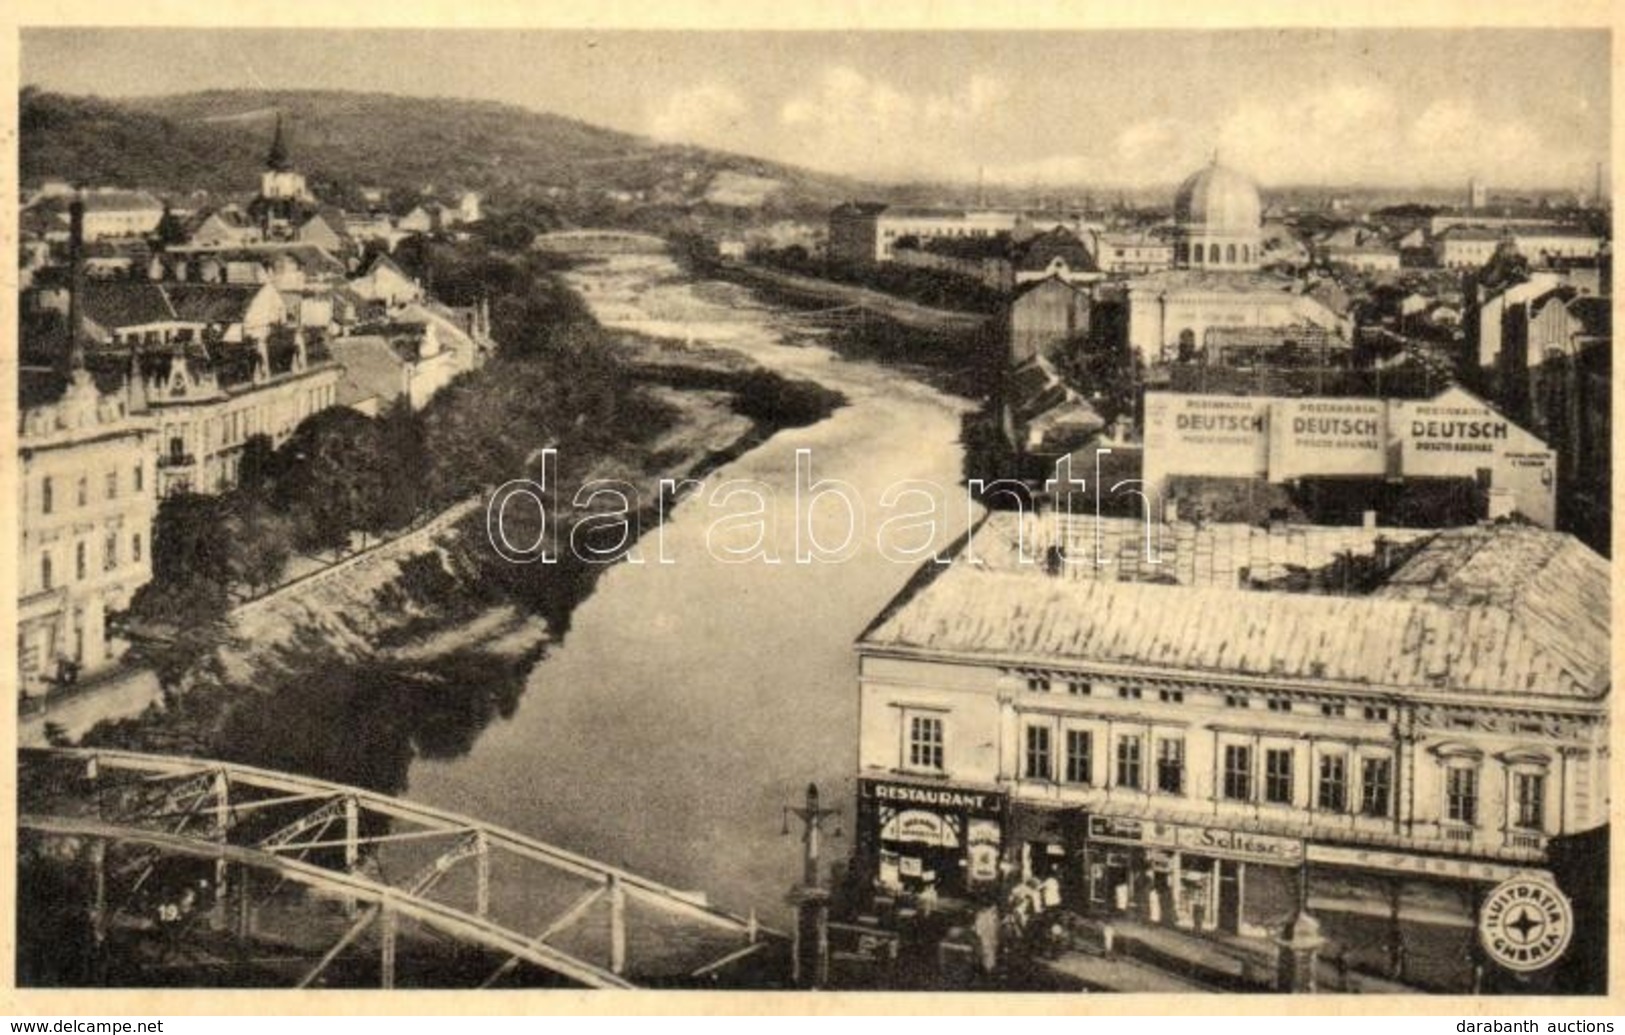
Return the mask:
[[(642, 564), (600, 578), (564, 642), (531, 671), (512, 720), (463, 757), (414, 762), (406, 796), (782, 923), (801, 845), (780, 835), (780, 809), (817, 782), (850, 822), (853, 640), (915, 570), (904, 551), (926, 538), (882, 528), (900, 513), (884, 505), (886, 492), (908, 481), (941, 486), (934, 539), (964, 531), (967, 403), (806, 344), (804, 331), (785, 331), (748, 291), (697, 283), (666, 257), (621, 255), (569, 276), (609, 327), (731, 348), (850, 405), (708, 473), (666, 515), (663, 539), (645, 533)], [(795, 562), (798, 523), (804, 535), (811, 522), (832, 549), (847, 523), (834, 497), (798, 500), (798, 450), (809, 450), (811, 478), (845, 481), (861, 502), (856, 554), (843, 562)], [(718, 499), (733, 479), (756, 483), (754, 496)], [(720, 520), (757, 499), (760, 523)], [(925, 497), (899, 502), (920, 510)], [(778, 564), (715, 556), (744, 549), (760, 528)], [(656, 562), (656, 544), (670, 564)], [(845, 851), (843, 842), (832, 847)]]

